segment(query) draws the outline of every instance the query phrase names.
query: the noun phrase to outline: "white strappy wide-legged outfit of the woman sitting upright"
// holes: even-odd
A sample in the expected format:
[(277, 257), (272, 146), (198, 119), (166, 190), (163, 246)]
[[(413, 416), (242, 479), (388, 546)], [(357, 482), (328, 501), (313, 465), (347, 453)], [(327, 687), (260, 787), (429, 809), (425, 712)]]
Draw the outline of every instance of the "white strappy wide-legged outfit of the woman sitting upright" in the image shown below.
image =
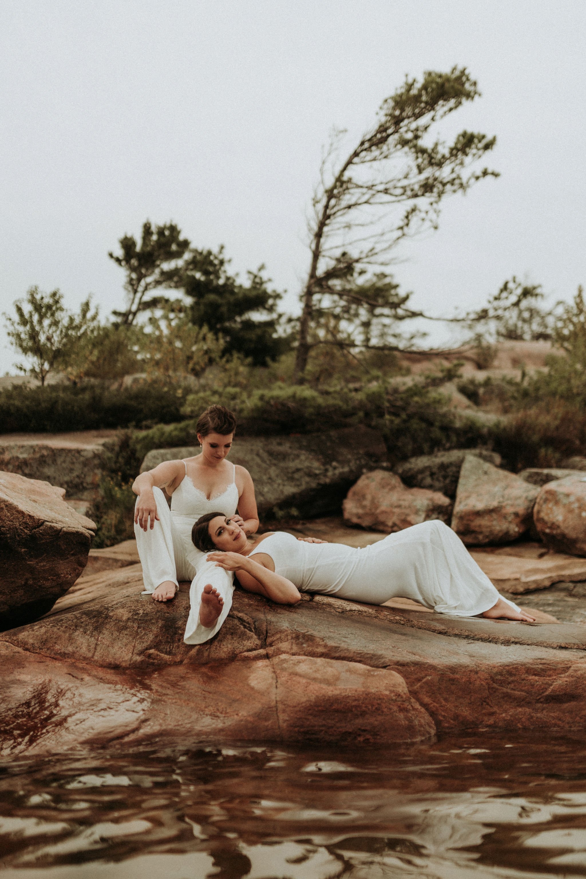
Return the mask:
[[(203, 643), (213, 637), (220, 630), (232, 607), (234, 575), (207, 562), (206, 554), (192, 544), (192, 527), (200, 516), (207, 512), (221, 512), (224, 516), (235, 514), (238, 487), (235, 483), (234, 464), (232, 468), (232, 482), (220, 494), (208, 499), (187, 476), (185, 464), (185, 476), (171, 495), (170, 508), (163, 491), (153, 489), (159, 517), (155, 521), (155, 527), (152, 530), (148, 527), (147, 531), (143, 531), (139, 525), (134, 525), (136, 546), (142, 563), (143, 595), (155, 592), (156, 587), (165, 581), (176, 586), (179, 580), (192, 581), (191, 611), (185, 629), (185, 640), (189, 636), (188, 643), (192, 644)], [(201, 593), (207, 583), (215, 586), (224, 599), (224, 607), (213, 628), (204, 628), (199, 622)]]

